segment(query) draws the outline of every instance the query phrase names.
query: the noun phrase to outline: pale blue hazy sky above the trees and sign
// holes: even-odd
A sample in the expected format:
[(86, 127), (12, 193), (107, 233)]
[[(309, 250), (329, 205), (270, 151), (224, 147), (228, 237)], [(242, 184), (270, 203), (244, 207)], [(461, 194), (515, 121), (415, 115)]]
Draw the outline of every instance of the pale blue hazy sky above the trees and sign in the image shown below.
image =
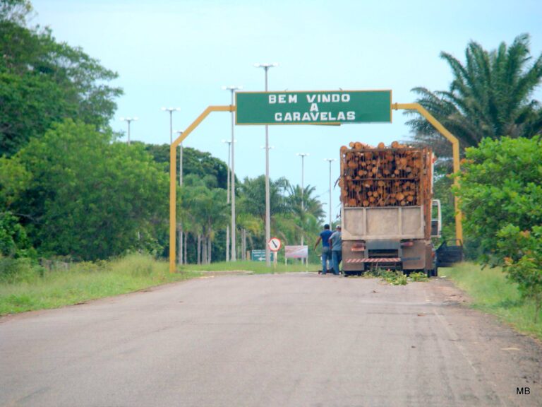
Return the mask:
[[(131, 138), (169, 143), (169, 114), (180, 107), (174, 130), (183, 130), (209, 105), (229, 105), (222, 85), (270, 90), (392, 90), (392, 101), (414, 102), (411, 88), (445, 90), (451, 73), (441, 51), (464, 61), (475, 40), (486, 49), (531, 35), (531, 53), (542, 52), (542, 3), (539, 0), (33, 0), (32, 23), (48, 25), (59, 41), (79, 46), (108, 69), (124, 89), (111, 122), (126, 131), (121, 117), (137, 116)], [(541, 90), (536, 99), (541, 100)], [(392, 124), (270, 126), (270, 176), (305, 185), (327, 204), (329, 166), (350, 141), (373, 145), (409, 137), (402, 112)], [(227, 161), (223, 139), (231, 137), (228, 112), (211, 114), (185, 146), (209, 151)], [(235, 167), (239, 178), (265, 173), (265, 129), (236, 126)], [(332, 179), (339, 176), (338, 161)], [(339, 191), (333, 189), (333, 214)], [(164, 197), (167, 199), (167, 197)], [(327, 205), (324, 206), (327, 210)]]

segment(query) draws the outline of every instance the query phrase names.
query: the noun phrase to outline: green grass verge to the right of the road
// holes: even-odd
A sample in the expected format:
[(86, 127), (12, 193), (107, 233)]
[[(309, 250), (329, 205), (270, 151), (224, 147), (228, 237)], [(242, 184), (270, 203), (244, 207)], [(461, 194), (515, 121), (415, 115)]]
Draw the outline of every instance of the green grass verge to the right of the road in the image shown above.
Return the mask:
[(450, 278), (469, 294), (472, 307), (495, 314), (518, 331), (542, 340), (542, 315), (535, 324), (534, 304), (521, 299), (517, 285), (508, 281), (500, 268), (482, 269), (478, 264), (463, 263), (440, 269), (439, 274)]

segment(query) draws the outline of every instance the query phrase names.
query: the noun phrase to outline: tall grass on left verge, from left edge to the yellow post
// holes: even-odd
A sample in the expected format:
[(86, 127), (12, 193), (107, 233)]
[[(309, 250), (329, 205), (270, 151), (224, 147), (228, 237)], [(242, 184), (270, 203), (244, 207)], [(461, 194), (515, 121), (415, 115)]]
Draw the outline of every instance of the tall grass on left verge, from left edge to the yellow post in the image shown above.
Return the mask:
[(143, 254), (66, 269), (34, 266), (0, 281), (0, 315), (63, 307), (197, 276), (196, 271), (169, 273), (167, 262)]

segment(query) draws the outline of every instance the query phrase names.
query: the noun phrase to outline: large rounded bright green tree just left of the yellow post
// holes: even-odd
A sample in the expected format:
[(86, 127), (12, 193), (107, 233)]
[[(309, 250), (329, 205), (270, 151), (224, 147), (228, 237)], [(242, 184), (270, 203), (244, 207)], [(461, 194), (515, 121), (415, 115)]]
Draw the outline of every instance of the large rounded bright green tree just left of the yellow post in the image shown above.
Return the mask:
[(167, 175), (142, 147), (110, 139), (68, 120), (14, 158), (32, 179), (13, 206), (40, 252), (107, 259), (129, 249), (161, 250)]

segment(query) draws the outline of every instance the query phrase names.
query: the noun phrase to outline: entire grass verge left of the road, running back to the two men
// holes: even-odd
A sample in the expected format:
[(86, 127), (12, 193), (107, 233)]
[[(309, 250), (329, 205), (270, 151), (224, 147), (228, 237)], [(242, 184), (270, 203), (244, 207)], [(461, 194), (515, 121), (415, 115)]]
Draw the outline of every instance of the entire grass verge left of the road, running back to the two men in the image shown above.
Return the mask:
[[(9, 273), (0, 274), (0, 315), (50, 309), (80, 304), (113, 295), (133, 293), (156, 285), (174, 283), (204, 276), (205, 272), (248, 271), (255, 274), (306, 271), (300, 262), (276, 269), (260, 261), (189, 264), (178, 273), (169, 273), (167, 261), (156, 260), (145, 254), (129, 254), (112, 261), (64, 263), (57, 261), (46, 268), (28, 259), (8, 261)], [(0, 264), (2, 265), (2, 264)], [(3, 264), (6, 266), (6, 264)], [(318, 270), (309, 264), (308, 271)]]

